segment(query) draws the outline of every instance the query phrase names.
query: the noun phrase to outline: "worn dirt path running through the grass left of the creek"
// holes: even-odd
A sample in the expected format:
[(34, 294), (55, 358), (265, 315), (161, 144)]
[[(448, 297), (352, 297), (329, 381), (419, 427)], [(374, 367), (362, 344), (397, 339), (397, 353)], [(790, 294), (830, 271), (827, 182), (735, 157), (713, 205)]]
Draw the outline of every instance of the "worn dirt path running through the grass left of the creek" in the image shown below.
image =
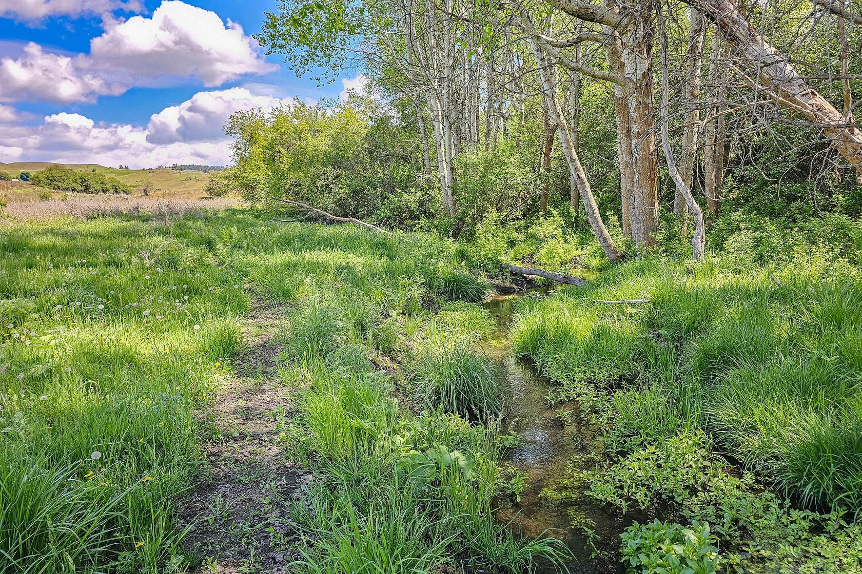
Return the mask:
[(290, 388), (278, 380), (273, 341), (284, 308), (255, 301), (245, 349), (213, 407), (213, 441), (181, 520), (191, 524), (186, 547), (203, 562), (198, 572), (284, 571), (293, 528), (287, 503), (302, 472), (278, 447), (278, 420), (290, 410)]

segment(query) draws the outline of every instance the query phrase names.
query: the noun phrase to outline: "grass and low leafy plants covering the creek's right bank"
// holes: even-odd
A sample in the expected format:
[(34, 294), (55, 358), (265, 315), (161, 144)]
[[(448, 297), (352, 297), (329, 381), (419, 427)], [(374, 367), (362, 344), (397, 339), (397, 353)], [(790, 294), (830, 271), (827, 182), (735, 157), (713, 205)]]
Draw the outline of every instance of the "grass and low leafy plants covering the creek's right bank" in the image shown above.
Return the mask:
[[(855, 268), (816, 255), (632, 261), (526, 302), (515, 349), (559, 383), (553, 402), (603, 429), (600, 470), (547, 497), (670, 518), (624, 537), (645, 571), (671, 555), (714, 571), (709, 552), (731, 571), (862, 571), (848, 526), (862, 508), (860, 310)], [(655, 540), (680, 546), (645, 555)]]

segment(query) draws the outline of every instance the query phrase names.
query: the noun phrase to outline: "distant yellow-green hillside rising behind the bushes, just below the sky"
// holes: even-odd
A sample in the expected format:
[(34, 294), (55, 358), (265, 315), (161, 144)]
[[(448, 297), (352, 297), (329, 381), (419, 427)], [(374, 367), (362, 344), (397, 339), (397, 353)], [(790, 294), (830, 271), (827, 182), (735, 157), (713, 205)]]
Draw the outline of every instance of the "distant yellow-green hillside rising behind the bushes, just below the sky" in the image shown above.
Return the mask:
[(209, 173), (203, 171), (178, 171), (171, 168), (153, 170), (118, 170), (99, 164), (51, 164), (48, 162), (0, 163), (0, 171), (17, 177), (22, 171), (35, 173), (49, 165), (59, 165), (72, 170), (103, 172), (106, 176), (116, 177), (132, 188), (133, 195), (142, 195), (145, 184), (149, 183), (150, 195), (165, 199), (197, 199), (205, 195), (203, 188), (209, 182)]

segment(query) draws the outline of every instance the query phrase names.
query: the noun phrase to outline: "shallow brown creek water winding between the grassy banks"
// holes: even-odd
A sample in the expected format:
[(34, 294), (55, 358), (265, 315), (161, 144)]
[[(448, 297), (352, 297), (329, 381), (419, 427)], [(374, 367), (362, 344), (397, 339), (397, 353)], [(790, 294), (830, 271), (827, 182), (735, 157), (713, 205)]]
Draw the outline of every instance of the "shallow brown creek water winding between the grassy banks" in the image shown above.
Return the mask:
[[(547, 534), (562, 540), (574, 557), (566, 565), (571, 572), (622, 573), (625, 570), (617, 556), (619, 535), (631, 524), (631, 516), (624, 519), (581, 497), (584, 502), (578, 502), (576, 511), (592, 522), (591, 528), (598, 536), (595, 543), (597, 552), (593, 555), (594, 548), (583, 531), (572, 528), (571, 507), (559, 508), (540, 497), (544, 488), (553, 488), (557, 480), (565, 476), (566, 467), (570, 464), (579, 469), (590, 466), (591, 463), (580, 455), (590, 453), (595, 433), (581, 423), (578, 404), (552, 407), (546, 398), (552, 383), (540, 376), (534, 365), (513, 355), (509, 340), (513, 305), (516, 299), (525, 296), (537, 295), (501, 295), (483, 304), (497, 321), (497, 333), (490, 338), (485, 349), (497, 361), (500, 370), (509, 413), (503, 426), (521, 436), (521, 442), (509, 449), (506, 460), (528, 476), (528, 486), (520, 501), (498, 501), (497, 519), (509, 523), (515, 531), (528, 537), (538, 538)], [(572, 424), (565, 424), (559, 418), (557, 410), (560, 407), (575, 413)], [(537, 572), (556, 571), (553, 565), (540, 565)]]

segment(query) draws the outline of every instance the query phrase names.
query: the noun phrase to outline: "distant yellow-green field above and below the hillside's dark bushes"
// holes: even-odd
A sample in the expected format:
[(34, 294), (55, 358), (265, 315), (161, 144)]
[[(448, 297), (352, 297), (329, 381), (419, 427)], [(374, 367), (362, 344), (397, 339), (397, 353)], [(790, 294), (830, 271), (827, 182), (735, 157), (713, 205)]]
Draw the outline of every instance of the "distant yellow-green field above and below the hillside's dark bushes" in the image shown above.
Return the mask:
[[(13, 164), (0, 164), (0, 171), (6, 172), (9, 176), (17, 177), (22, 171), (29, 171), (32, 174), (44, 170), (49, 165), (56, 164), (48, 164), (46, 162), (16, 162)], [(145, 183), (149, 183), (152, 188), (150, 195), (153, 198), (197, 200), (197, 198), (205, 195), (203, 188), (209, 182), (209, 174), (203, 173), (203, 171), (177, 171), (171, 169), (117, 170), (116, 168), (106, 168), (97, 164), (59, 165), (72, 170), (97, 171), (103, 173), (105, 176), (116, 177), (133, 189), (132, 195), (135, 197), (141, 196), (141, 187)], [(17, 184), (13, 182), (11, 185), (7, 183), (4, 188), (0, 188), (0, 200), (7, 202), (35, 201), (39, 198), (40, 193), (41, 188), (35, 188), (23, 183)], [(56, 194), (56, 192), (53, 193)]]

